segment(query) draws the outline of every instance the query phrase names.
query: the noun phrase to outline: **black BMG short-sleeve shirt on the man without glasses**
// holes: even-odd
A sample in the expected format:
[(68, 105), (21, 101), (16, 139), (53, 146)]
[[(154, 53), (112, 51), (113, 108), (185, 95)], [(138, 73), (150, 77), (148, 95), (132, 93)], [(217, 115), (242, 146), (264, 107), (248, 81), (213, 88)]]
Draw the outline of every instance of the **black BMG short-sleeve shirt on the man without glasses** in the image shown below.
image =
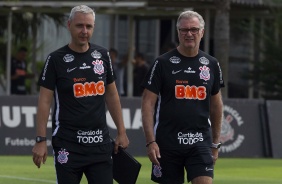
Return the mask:
[(103, 47), (90, 44), (76, 53), (66, 45), (51, 53), (38, 84), (54, 91), (53, 136), (86, 146), (108, 143), (104, 95), (114, 80)]

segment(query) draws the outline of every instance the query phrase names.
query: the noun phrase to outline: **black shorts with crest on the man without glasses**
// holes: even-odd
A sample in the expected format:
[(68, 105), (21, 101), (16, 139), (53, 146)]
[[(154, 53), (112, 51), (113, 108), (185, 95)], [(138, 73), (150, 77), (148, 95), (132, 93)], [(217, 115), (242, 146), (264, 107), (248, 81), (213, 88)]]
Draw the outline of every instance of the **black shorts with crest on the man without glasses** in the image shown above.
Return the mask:
[(89, 184), (113, 184), (112, 143), (85, 147), (62, 142), (62, 147), (53, 146), (58, 184), (79, 184), (83, 174)]

